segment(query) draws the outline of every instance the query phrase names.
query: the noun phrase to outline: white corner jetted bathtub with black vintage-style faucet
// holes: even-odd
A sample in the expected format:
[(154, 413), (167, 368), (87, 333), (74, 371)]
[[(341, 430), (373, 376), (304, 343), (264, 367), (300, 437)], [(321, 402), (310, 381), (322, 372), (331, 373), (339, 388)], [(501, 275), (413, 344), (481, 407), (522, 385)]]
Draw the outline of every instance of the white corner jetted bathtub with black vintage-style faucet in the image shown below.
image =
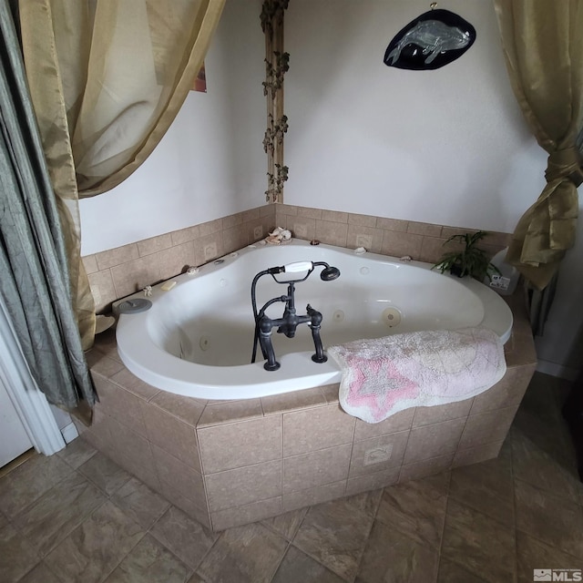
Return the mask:
[[(322, 312), (322, 343), (421, 330), (454, 330), (483, 325), (506, 343), (512, 312), (500, 296), (478, 281), (431, 271), (431, 265), (404, 262), (373, 253), (358, 254), (330, 245), (292, 240), (281, 246), (255, 244), (182, 274), (169, 291), (153, 287), (146, 312), (121, 313), (118, 352), (129, 371), (155, 387), (201, 399), (249, 399), (338, 383), (332, 358), (312, 362), (314, 347), (307, 324), (294, 338), (271, 334), (276, 371), (263, 368), (261, 350), (251, 363), (254, 318), (251, 281), (256, 273), (300, 261), (325, 261), (341, 276), (322, 281), (320, 267), (296, 284), (296, 308), (307, 303)], [(278, 275), (298, 278), (302, 274)], [(271, 275), (257, 284), (257, 304), (287, 292)], [(130, 298), (143, 298), (139, 293)], [(116, 302), (114, 310), (121, 302)], [(266, 313), (279, 318), (283, 303)]]

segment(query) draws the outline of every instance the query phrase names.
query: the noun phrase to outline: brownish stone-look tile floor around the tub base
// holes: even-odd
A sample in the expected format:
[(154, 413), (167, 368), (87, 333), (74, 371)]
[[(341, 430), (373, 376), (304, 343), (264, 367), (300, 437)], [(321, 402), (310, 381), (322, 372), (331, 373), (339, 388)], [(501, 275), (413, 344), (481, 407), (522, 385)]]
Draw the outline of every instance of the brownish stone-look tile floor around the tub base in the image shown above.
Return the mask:
[(0, 478), (0, 581), (530, 583), (583, 568), (567, 390), (535, 374), (497, 459), (218, 534), (77, 439)]

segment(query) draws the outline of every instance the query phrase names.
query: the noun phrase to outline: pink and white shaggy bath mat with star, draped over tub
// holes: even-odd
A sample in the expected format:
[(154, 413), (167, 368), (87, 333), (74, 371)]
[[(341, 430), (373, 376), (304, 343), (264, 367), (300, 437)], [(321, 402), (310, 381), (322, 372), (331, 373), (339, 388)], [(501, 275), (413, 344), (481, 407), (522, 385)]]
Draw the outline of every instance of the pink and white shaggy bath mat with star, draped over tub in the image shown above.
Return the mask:
[(394, 334), (326, 352), (343, 372), (343, 410), (367, 423), (410, 407), (468, 399), (506, 373), (500, 339), (481, 327)]

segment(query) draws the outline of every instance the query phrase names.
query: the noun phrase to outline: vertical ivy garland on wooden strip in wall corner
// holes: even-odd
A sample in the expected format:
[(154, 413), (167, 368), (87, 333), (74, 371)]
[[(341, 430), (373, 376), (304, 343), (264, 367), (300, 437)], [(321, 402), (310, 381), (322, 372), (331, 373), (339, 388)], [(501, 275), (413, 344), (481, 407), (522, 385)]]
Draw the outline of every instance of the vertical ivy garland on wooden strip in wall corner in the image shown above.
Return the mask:
[(265, 81), (267, 97), (267, 129), (263, 149), (267, 154), (267, 202), (283, 202), (283, 183), (288, 167), (283, 164), (283, 135), (288, 118), (283, 114), (283, 76), (288, 71), (290, 54), (283, 51), (283, 15), (289, 0), (264, 0), (261, 6), (261, 28), (265, 35)]

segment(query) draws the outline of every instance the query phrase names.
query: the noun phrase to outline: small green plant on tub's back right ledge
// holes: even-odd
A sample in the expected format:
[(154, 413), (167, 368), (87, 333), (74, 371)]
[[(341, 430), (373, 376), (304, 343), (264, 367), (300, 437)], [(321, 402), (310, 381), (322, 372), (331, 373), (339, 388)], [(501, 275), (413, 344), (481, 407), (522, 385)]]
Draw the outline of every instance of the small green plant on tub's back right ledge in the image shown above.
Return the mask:
[(492, 279), (492, 273), (499, 273), (495, 265), (490, 263), (486, 251), (477, 247), (477, 243), (487, 235), (486, 230), (478, 230), (475, 233), (454, 235), (445, 241), (444, 245), (452, 241), (462, 243), (460, 251), (448, 251), (444, 253), (441, 261), (435, 263), (432, 269), (437, 268), (442, 273), (449, 271), (457, 277), (469, 275), (478, 281)]

